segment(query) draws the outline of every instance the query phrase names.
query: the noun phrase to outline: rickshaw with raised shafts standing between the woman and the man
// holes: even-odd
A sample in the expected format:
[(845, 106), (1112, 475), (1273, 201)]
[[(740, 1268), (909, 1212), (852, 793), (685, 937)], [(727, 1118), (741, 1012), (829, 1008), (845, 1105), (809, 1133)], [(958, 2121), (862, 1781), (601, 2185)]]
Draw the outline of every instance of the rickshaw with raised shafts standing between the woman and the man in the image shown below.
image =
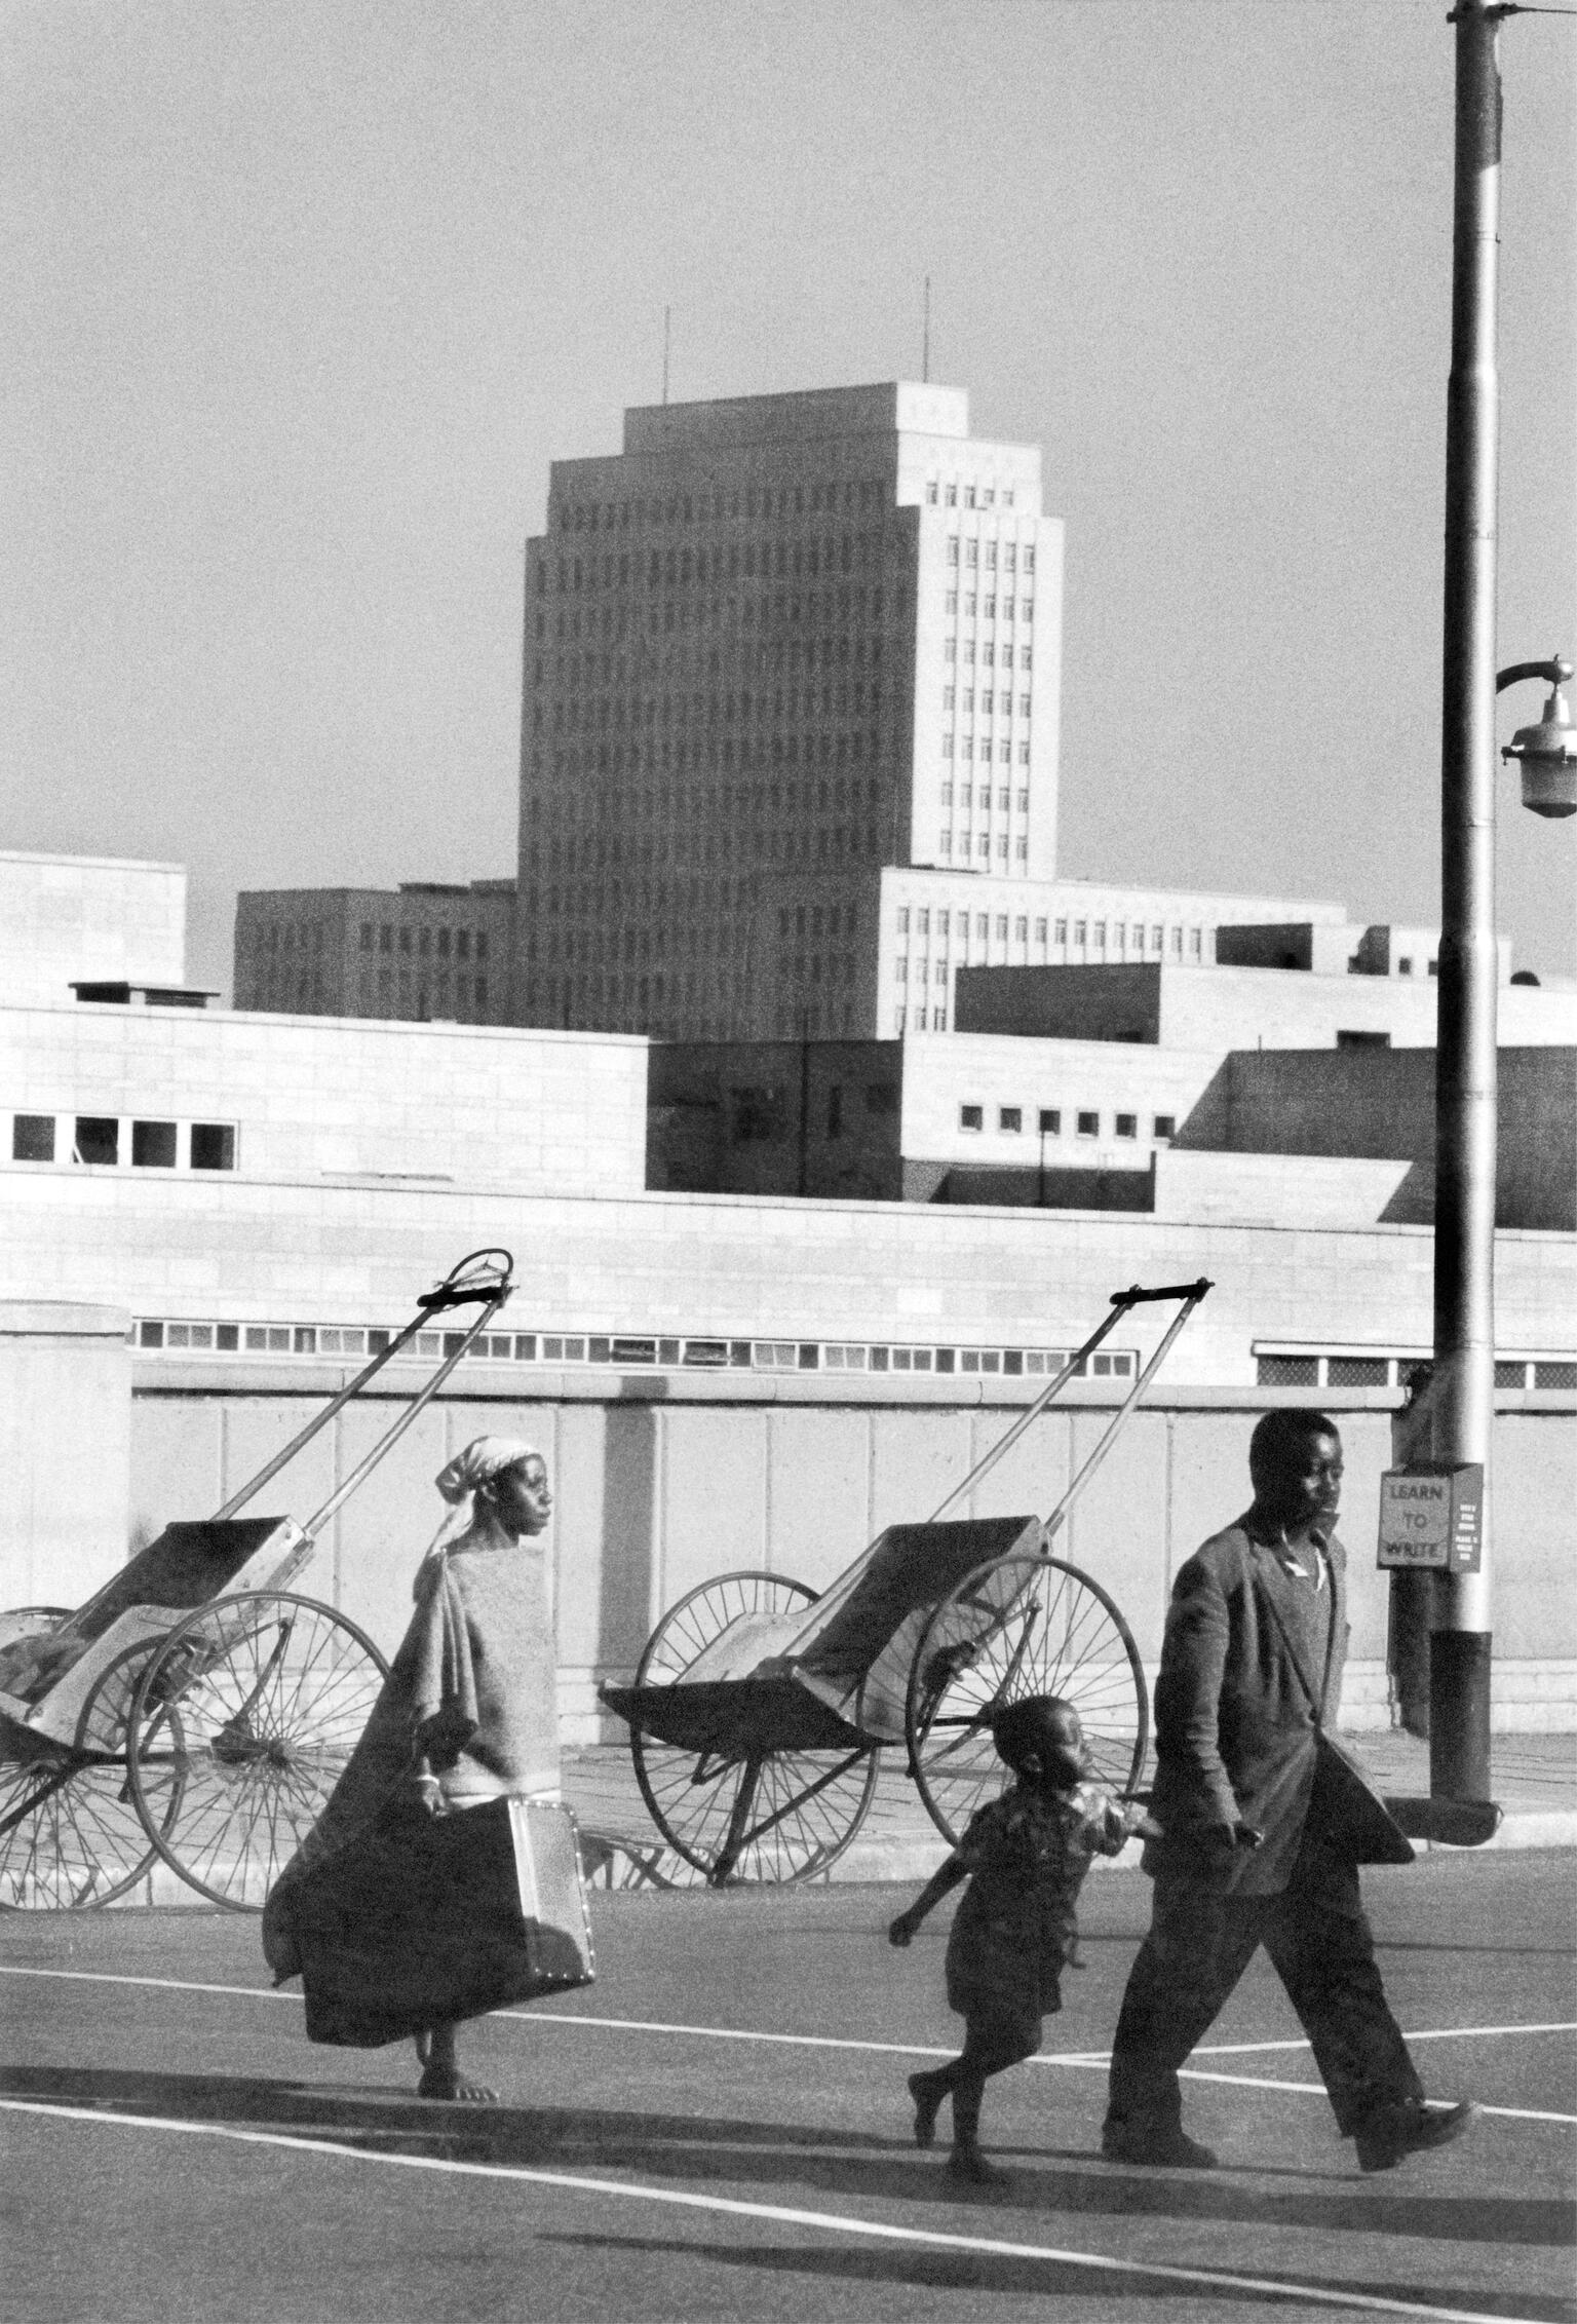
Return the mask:
[[(627, 1687), (602, 1701), (629, 1724), (646, 1806), (687, 1878), (808, 1880), (866, 1817), (880, 1755), (908, 1773), (955, 1845), (1001, 1787), (989, 1724), (1024, 1694), (1078, 1706), (1096, 1780), (1133, 1796), (1150, 1697), (1133, 1634), (1057, 1534), (1210, 1283), (1131, 1285), (1061, 1371), (920, 1525), (890, 1525), (824, 1592), (780, 1573), (720, 1573), (671, 1606)], [(1175, 1301), (1154, 1355), (1047, 1518), (957, 1518), (1133, 1308)], [(681, 1871), (681, 1875), (685, 1875)]]

